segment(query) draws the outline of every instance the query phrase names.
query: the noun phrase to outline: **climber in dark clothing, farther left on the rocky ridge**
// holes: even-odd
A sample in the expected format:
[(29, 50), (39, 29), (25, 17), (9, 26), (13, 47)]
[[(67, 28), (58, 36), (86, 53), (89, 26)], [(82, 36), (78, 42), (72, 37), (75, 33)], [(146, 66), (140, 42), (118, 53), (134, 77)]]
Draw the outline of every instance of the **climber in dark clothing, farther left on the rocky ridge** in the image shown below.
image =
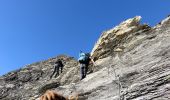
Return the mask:
[(63, 71), (63, 63), (62, 63), (62, 61), (61, 61), (61, 59), (58, 59), (56, 62), (55, 62), (55, 64), (54, 64), (54, 71), (53, 71), (53, 73), (52, 73), (52, 75), (51, 75), (51, 77), (50, 78), (52, 78), (53, 77), (53, 75), (55, 74), (55, 78), (57, 77), (57, 76), (59, 76), (59, 71), (61, 70), (61, 73), (62, 73), (62, 71)]

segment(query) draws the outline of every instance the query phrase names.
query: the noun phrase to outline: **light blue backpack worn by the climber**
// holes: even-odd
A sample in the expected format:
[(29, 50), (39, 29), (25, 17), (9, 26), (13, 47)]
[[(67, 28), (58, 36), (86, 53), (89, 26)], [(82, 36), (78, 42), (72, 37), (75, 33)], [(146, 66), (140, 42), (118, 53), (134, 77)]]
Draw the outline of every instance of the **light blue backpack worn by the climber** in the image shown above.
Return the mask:
[(89, 53), (83, 53), (83, 52), (81, 52), (81, 53), (79, 54), (79, 59), (78, 59), (78, 61), (79, 61), (80, 63), (86, 63), (86, 62), (89, 61), (89, 57), (90, 57), (90, 54), (89, 54)]

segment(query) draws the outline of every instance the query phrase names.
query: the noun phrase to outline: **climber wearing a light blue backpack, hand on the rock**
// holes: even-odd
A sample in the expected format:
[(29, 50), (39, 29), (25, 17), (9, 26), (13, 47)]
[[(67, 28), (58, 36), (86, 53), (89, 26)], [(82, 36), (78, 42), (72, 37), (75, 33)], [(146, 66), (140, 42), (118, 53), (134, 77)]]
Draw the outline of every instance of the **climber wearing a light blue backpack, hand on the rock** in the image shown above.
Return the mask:
[(95, 64), (93, 59), (91, 59), (90, 53), (83, 53), (82, 51), (79, 53), (78, 61), (80, 63), (80, 79), (82, 80), (86, 77), (90, 61), (93, 63), (93, 66)]

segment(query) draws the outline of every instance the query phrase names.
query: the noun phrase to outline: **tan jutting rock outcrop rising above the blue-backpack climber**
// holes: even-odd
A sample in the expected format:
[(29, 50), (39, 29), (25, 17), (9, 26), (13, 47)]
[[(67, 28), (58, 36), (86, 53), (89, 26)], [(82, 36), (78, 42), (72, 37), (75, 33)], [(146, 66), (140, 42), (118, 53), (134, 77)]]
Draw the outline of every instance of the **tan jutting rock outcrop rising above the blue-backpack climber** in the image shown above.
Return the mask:
[(140, 19), (140, 16), (136, 16), (102, 33), (91, 52), (93, 59), (102, 59), (111, 55), (116, 47), (121, 46), (121, 42), (123, 42), (127, 36), (140, 30), (149, 29), (148, 25), (140, 25)]

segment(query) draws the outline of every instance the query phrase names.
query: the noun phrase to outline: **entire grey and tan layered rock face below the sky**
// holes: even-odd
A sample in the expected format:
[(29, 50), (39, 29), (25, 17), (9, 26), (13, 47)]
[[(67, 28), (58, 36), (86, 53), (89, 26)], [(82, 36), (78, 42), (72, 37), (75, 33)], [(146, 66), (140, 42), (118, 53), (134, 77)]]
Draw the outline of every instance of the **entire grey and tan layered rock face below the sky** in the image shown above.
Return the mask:
[[(153, 28), (140, 19), (102, 33), (91, 52), (96, 66), (85, 79), (79, 80), (78, 62), (62, 55), (0, 77), (0, 99), (39, 100), (52, 89), (78, 100), (170, 100), (170, 17)], [(64, 71), (50, 79), (59, 58)]]

